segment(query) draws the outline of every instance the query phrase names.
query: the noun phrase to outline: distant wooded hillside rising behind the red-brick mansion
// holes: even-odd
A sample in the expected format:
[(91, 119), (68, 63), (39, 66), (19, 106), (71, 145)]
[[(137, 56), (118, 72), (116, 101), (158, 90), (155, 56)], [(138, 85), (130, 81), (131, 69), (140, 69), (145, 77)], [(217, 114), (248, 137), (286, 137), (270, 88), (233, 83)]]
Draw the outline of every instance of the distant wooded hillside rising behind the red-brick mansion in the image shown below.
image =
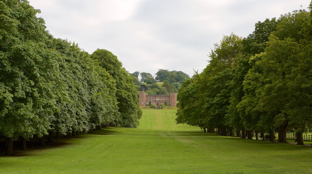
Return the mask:
[[(147, 94), (169, 94), (178, 92), (181, 84), (189, 78), (188, 74), (182, 71), (169, 71), (159, 69), (155, 74), (155, 78), (150, 73), (136, 71), (131, 74), (134, 85), (138, 91), (143, 91)], [(139, 76), (141, 79), (139, 80)], [(163, 82), (158, 85), (157, 82)]]

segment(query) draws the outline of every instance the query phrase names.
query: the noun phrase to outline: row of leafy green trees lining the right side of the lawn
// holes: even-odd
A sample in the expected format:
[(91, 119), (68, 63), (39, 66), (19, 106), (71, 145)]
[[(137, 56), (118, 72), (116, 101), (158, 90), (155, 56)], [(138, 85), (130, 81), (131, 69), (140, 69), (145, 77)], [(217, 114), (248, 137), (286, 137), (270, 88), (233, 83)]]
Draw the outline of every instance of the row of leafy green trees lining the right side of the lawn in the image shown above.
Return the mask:
[(303, 145), (312, 125), (311, 12), (257, 22), (246, 38), (224, 36), (209, 57), (179, 89), (177, 123), (249, 139), (269, 133), (270, 141), (278, 131), (279, 142), (294, 130)]

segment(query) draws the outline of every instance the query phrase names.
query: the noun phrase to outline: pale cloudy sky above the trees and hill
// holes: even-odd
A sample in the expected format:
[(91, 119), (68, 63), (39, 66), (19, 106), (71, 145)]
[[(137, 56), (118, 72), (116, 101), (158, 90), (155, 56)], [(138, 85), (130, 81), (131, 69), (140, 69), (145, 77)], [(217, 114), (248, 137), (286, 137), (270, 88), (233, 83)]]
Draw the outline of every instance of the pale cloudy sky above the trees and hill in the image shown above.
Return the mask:
[(111, 51), (123, 67), (192, 76), (223, 36), (247, 37), (255, 23), (308, 10), (310, 0), (28, 0), (55, 38), (92, 54)]

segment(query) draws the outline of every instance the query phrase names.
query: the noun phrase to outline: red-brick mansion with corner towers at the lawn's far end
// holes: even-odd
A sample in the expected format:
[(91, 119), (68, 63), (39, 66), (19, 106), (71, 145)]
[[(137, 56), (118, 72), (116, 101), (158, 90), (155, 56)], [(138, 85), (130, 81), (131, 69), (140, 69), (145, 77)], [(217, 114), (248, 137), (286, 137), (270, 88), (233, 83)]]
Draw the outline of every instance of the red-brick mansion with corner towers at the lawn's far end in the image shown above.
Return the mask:
[(159, 104), (165, 104), (165, 102), (167, 105), (177, 106), (177, 93), (170, 93), (169, 95), (146, 95), (145, 92), (141, 92), (139, 93), (139, 101), (140, 106), (149, 105), (149, 102), (156, 106), (159, 106)]

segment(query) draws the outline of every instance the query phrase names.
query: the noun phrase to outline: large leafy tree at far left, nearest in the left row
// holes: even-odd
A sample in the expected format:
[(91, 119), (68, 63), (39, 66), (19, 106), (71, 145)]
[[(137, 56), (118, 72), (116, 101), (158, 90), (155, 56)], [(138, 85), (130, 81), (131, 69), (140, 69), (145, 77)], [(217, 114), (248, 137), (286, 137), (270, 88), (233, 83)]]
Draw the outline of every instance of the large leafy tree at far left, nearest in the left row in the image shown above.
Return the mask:
[(49, 34), (40, 12), (27, 1), (1, 1), (0, 17), (0, 133), (7, 138), (6, 155), (13, 140), (47, 134), (55, 112), (51, 78), (57, 64), (47, 56)]

